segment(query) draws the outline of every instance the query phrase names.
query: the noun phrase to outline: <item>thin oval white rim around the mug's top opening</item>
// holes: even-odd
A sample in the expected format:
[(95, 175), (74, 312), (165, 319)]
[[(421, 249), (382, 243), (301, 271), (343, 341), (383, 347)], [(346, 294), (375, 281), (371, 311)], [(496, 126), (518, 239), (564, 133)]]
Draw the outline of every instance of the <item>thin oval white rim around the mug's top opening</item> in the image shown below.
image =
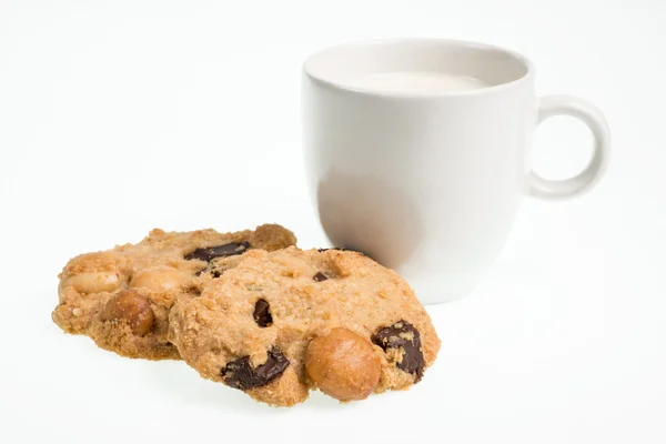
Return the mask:
[[(457, 46), (462, 48), (472, 48), (472, 49), (481, 49), (487, 51), (496, 51), (502, 52), (518, 63), (521, 63), (525, 68), (525, 73), (517, 79), (511, 80), (508, 82), (494, 84), (490, 87), (477, 88), (473, 90), (466, 91), (437, 91), (437, 92), (416, 92), (416, 91), (380, 91), (372, 88), (362, 88), (362, 87), (353, 87), (350, 84), (345, 84), (344, 82), (337, 82), (334, 80), (323, 79), (322, 77), (315, 74), (311, 70), (311, 64), (316, 57), (321, 57), (325, 54), (327, 51), (344, 49), (344, 48), (354, 48), (354, 47), (364, 47), (364, 46), (386, 46), (386, 44), (396, 44), (396, 43), (436, 43), (436, 44), (450, 44)], [(303, 73), (312, 79), (313, 81), (320, 82), (329, 88), (333, 88), (336, 90), (347, 91), (352, 93), (360, 93), (365, 95), (375, 95), (382, 98), (413, 98), (413, 99), (427, 99), (427, 98), (450, 98), (450, 97), (470, 97), (470, 95), (481, 95), (493, 92), (503, 91), (506, 89), (511, 89), (518, 84), (526, 82), (534, 75), (534, 64), (532, 61), (525, 56), (511, 49), (506, 49), (492, 43), (484, 43), (472, 40), (460, 40), (460, 39), (446, 39), (446, 38), (420, 38), (420, 37), (406, 37), (406, 38), (382, 38), (382, 39), (365, 39), (365, 40), (354, 40), (342, 42), (337, 44), (332, 44), (329, 47), (324, 47), (313, 53), (311, 53), (302, 65)]]

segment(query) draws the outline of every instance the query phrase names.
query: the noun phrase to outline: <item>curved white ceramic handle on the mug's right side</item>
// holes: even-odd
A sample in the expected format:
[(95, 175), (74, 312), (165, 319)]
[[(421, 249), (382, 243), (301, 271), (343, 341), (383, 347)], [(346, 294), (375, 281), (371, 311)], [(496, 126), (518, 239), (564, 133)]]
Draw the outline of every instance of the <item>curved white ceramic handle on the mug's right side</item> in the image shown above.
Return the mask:
[(571, 115), (582, 120), (595, 139), (594, 154), (578, 175), (565, 180), (547, 180), (529, 173), (529, 194), (541, 199), (566, 199), (591, 190), (606, 171), (610, 157), (610, 130), (602, 112), (592, 103), (569, 97), (548, 95), (538, 104), (537, 124), (554, 115)]

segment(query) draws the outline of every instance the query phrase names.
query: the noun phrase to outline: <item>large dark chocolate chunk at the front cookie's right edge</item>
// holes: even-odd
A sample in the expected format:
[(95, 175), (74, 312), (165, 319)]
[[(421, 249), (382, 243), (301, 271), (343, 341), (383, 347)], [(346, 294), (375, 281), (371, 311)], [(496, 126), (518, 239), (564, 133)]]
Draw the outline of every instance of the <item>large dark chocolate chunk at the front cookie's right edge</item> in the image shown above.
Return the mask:
[(407, 373), (415, 375), (414, 383), (423, 377), (425, 361), (421, 351), (421, 334), (414, 325), (406, 321), (398, 321), (391, 326), (380, 329), (372, 335), (372, 342), (384, 351), (389, 349), (402, 350), (402, 361), (395, 365)]

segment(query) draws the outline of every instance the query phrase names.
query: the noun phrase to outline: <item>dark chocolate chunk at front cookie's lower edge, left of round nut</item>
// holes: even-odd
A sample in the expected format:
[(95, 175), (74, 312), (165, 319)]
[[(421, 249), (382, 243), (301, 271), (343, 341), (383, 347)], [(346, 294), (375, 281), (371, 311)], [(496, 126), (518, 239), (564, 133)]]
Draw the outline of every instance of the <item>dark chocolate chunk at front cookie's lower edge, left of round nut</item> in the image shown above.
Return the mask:
[(250, 356), (244, 356), (226, 364), (222, 369), (222, 376), (230, 387), (250, 390), (266, 385), (279, 377), (287, 366), (286, 356), (278, 347), (272, 347), (264, 364), (252, 369)]

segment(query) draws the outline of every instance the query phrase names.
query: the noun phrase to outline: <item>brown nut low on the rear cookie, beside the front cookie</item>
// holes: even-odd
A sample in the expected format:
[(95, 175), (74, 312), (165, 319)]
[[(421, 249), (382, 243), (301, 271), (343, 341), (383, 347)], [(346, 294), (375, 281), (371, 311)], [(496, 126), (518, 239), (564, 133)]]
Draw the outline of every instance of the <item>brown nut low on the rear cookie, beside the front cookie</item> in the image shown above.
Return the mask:
[(107, 302), (102, 319), (127, 321), (132, 333), (143, 336), (152, 330), (154, 314), (148, 299), (134, 290), (124, 290)]

